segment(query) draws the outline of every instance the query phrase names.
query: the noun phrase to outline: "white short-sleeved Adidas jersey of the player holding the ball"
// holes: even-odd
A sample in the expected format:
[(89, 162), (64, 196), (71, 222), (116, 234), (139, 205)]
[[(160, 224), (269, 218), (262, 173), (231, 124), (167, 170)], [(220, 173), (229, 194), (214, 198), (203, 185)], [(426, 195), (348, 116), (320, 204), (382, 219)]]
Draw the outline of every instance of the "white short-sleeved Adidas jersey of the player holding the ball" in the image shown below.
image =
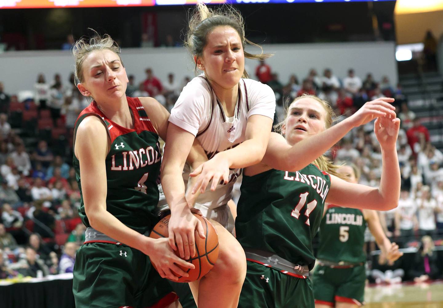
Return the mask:
[[(275, 106), (275, 95), (269, 86), (242, 78), (238, 86), (234, 116), (226, 117), (210, 83), (205, 75), (201, 74), (183, 88), (171, 110), (169, 121), (194, 134), (202, 144), (208, 159), (211, 159), (218, 152), (245, 141), (246, 124), (250, 116), (260, 114), (273, 119)], [(186, 165), (183, 171), (185, 184), (189, 179), (189, 170), (189, 166)], [(218, 184), (215, 191), (210, 191), (208, 185), (196, 203), (209, 209), (228, 203), (233, 185), (240, 174), (241, 169), (231, 169), (228, 184)]]

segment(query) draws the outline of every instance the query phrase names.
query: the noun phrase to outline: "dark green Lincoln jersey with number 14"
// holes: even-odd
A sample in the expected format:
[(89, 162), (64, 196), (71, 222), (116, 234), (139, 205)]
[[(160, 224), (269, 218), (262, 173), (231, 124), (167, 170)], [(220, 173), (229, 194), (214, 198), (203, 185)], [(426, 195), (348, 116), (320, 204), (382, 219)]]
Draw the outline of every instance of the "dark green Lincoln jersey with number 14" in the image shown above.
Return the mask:
[(235, 230), (245, 248), (276, 253), (314, 266), (312, 238), (319, 229), (330, 176), (314, 164), (297, 172), (268, 170), (243, 176)]

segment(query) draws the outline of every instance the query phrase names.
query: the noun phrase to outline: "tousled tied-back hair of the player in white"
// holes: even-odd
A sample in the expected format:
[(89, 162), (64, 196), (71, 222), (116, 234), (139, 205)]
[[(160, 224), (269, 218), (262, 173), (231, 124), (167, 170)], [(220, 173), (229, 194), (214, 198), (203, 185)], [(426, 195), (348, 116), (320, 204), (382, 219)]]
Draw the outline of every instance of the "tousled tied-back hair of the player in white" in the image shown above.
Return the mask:
[[(265, 59), (272, 56), (272, 54), (264, 54), (263, 48), (260, 45), (245, 38), (245, 22), (240, 12), (228, 5), (217, 9), (210, 9), (205, 4), (198, 3), (190, 14), (188, 31), (184, 42), (192, 58), (194, 58), (194, 56), (202, 56), (203, 48), (207, 44), (206, 37), (208, 33), (214, 29), (214, 27), (218, 26), (229, 26), (237, 31), (240, 36), (245, 58)], [(259, 47), (261, 53), (250, 54), (245, 51), (247, 44)], [(195, 63), (195, 70), (197, 70), (197, 63)], [(242, 77), (248, 78), (248, 73), (244, 71)]]

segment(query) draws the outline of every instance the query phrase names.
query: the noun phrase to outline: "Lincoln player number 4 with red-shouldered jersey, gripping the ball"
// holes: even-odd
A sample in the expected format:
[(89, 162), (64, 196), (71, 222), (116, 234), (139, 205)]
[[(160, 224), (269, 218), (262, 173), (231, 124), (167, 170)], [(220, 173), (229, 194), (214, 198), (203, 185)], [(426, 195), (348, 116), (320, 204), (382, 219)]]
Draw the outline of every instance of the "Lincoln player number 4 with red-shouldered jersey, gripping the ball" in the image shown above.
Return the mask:
[(76, 307), (179, 307), (160, 276), (187, 276), (176, 264), (194, 265), (167, 238), (144, 235), (158, 221), (158, 138), (169, 113), (150, 97), (126, 97), (126, 70), (109, 35), (81, 39), (73, 52), (78, 89), (93, 97), (74, 130), (79, 212), (88, 227), (74, 267)]

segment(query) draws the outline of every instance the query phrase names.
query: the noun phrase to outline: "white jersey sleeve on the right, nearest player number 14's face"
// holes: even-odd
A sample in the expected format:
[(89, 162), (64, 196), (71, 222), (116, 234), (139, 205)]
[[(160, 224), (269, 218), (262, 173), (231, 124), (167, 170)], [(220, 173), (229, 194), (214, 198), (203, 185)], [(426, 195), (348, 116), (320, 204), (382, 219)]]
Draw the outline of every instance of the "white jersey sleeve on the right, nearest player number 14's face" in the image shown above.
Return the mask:
[(276, 111), (276, 96), (268, 85), (261, 82), (250, 84), (248, 89), (249, 112), (247, 118), (254, 114), (260, 114), (274, 120)]

